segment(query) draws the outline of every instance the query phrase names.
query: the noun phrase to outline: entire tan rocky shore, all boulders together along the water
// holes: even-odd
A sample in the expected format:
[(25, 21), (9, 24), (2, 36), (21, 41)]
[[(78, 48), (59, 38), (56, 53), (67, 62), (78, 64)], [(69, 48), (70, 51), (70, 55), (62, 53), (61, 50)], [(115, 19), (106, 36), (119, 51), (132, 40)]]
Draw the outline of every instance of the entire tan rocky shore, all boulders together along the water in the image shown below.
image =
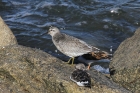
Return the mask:
[(69, 79), (74, 66), (42, 50), (18, 45), (0, 17), (0, 93), (140, 93), (139, 34), (140, 29), (115, 52), (111, 77), (91, 69), (92, 86), (86, 88)]

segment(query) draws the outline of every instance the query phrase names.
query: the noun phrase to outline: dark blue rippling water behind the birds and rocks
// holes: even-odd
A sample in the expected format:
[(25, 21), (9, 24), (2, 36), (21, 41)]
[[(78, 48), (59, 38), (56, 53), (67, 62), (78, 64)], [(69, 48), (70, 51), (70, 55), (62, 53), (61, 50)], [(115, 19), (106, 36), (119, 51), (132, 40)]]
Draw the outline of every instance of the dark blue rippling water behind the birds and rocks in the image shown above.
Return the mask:
[(50, 25), (109, 51), (140, 26), (140, 0), (0, 0), (0, 16), (18, 43), (39, 48), (60, 59), (49, 35)]

